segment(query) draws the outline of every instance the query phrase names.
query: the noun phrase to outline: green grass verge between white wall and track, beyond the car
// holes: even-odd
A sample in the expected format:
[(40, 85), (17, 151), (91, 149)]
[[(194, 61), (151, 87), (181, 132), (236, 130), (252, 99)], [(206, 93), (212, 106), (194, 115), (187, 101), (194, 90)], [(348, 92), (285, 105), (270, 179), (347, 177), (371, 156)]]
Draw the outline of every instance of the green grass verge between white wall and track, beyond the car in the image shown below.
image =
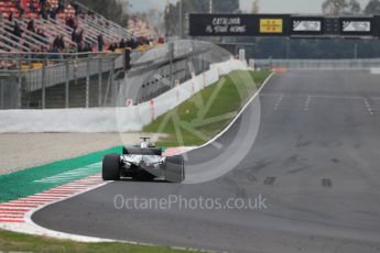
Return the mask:
[[(270, 72), (237, 70), (194, 95), (143, 128), (164, 133), (160, 146), (196, 146), (213, 139), (236, 117), (269, 77)], [(182, 139), (182, 140), (181, 140)]]

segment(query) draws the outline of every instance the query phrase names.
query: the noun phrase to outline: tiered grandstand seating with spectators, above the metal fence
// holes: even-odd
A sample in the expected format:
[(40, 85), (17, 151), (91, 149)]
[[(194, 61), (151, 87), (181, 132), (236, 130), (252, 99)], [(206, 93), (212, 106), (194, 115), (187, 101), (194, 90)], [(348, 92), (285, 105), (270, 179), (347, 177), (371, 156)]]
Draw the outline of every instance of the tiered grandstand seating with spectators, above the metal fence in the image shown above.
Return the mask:
[[(119, 24), (107, 20), (78, 2), (61, 7), (61, 0), (48, 0), (46, 7), (39, 0), (1, 0), (0, 46), (2, 52), (50, 52), (54, 41), (62, 35), (66, 44), (64, 51), (75, 48), (78, 44), (88, 44), (91, 51), (99, 51), (99, 36), (107, 50), (112, 43), (121, 40), (133, 40)], [(22, 4), (21, 4), (22, 3)], [(21, 31), (21, 32), (20, 32)], [(82, 42), (73, 42), (73, 35), (82, 33)], [(102, 50), (101, 50), (102, 51)]]

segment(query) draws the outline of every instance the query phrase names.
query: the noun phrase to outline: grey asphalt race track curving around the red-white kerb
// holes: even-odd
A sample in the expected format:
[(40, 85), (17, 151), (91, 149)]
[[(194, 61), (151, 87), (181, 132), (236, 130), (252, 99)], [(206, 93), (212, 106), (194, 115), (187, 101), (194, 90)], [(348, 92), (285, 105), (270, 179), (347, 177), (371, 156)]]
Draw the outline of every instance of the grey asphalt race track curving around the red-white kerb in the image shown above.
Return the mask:
[[(248, 155), (204, 184), (117, 182), (46, 207), (32, 219), (62, 232), (228, 252), (380, 252), (380, 81), (365, 72), (276, 75), (213, 145), (188, 154), (210, 160), (258, 108)], [(247, 134), (247, 133), (246, 133)], [(224, 155), (218, 162), (234, 160)], [(207, 169), (202, 167), (200, 169)], [(267, 198), (262, 210), (118, 210), (115, 196)]]

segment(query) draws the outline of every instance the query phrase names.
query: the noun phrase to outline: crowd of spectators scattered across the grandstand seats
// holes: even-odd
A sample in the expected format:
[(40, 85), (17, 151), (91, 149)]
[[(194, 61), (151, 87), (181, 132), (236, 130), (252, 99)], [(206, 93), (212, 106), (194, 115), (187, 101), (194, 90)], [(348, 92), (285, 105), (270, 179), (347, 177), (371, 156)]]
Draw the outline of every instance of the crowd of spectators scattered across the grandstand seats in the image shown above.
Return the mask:
[[(21, 0), (14, 0), (15, 7), (19, 10), (20, 18), (25, 13), (25, 10), (21, 6)], [(65, 13), (68, 2), (66, 0), (58, 0), (56, 6), (52, 6), (47, 0), (30, 0), (28, 8), (41, 16), (41, 19), (55, 20), (59, 13)], [(150, 45), (152, 42), (145, 37), (130, 37), (122, 38), (120, 41), (106, 41), (106, 34), (98, 34), (97, 38), (89, 40), (86, 37), (86, 32), (80, 28), (79, 19), (93, 19), (96, 20), (95, 13), (93, 11), (84, 11), (79, 6), (70, 3), (70, 8), (74, 9), (74, 14), (66, 15), (65, 24), (67, 31), (72, 31), (72, 36), (68, 37), (65, 34), (56, 35), (52, 43), (51, 40), (44, 33), (44, 26), (39, 26), (33, 19), (30, 19), (26, 26), (22, 26), (18, 19), (14, 19), (11, 12), (8, 16), (8, 21), (12, 24), (11, 28), (7, 28), (6, 44), (9, 47), (20, 47), (24, 52), (35, 52), (35, 53), (88, 53), (88, 52), (116, 52), (118, 48), (131, 48), (135, 50), (141, 45)], [(2, 15), (0, 16), (2, 19)], [(99, 26), (107, 30), (109, 23), (105, 20), (96, 20)], [(20, 22), (20, 23), (19, 23)], [(28, 34), (23, 40), (23, 34)], [(94, 34), (93, 34), (94, 35)], [(39, 46), (36, 46), (37, 41)], [(13, 42), (13, 44), (12, 44)], [(43, 44), (50, 46), (42, 46)], [(0, 50), (8, 51), (8, 46), (1, 46)]]

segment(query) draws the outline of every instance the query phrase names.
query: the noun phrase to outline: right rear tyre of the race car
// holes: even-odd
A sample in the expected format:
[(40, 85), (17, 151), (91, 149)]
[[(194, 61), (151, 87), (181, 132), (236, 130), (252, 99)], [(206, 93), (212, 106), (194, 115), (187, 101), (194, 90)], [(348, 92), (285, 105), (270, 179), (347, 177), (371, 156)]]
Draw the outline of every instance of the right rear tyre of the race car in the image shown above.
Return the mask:
[(166, 157), (165, 180), (170, 183), (185, 180), (185, 161), (181, 155)]

